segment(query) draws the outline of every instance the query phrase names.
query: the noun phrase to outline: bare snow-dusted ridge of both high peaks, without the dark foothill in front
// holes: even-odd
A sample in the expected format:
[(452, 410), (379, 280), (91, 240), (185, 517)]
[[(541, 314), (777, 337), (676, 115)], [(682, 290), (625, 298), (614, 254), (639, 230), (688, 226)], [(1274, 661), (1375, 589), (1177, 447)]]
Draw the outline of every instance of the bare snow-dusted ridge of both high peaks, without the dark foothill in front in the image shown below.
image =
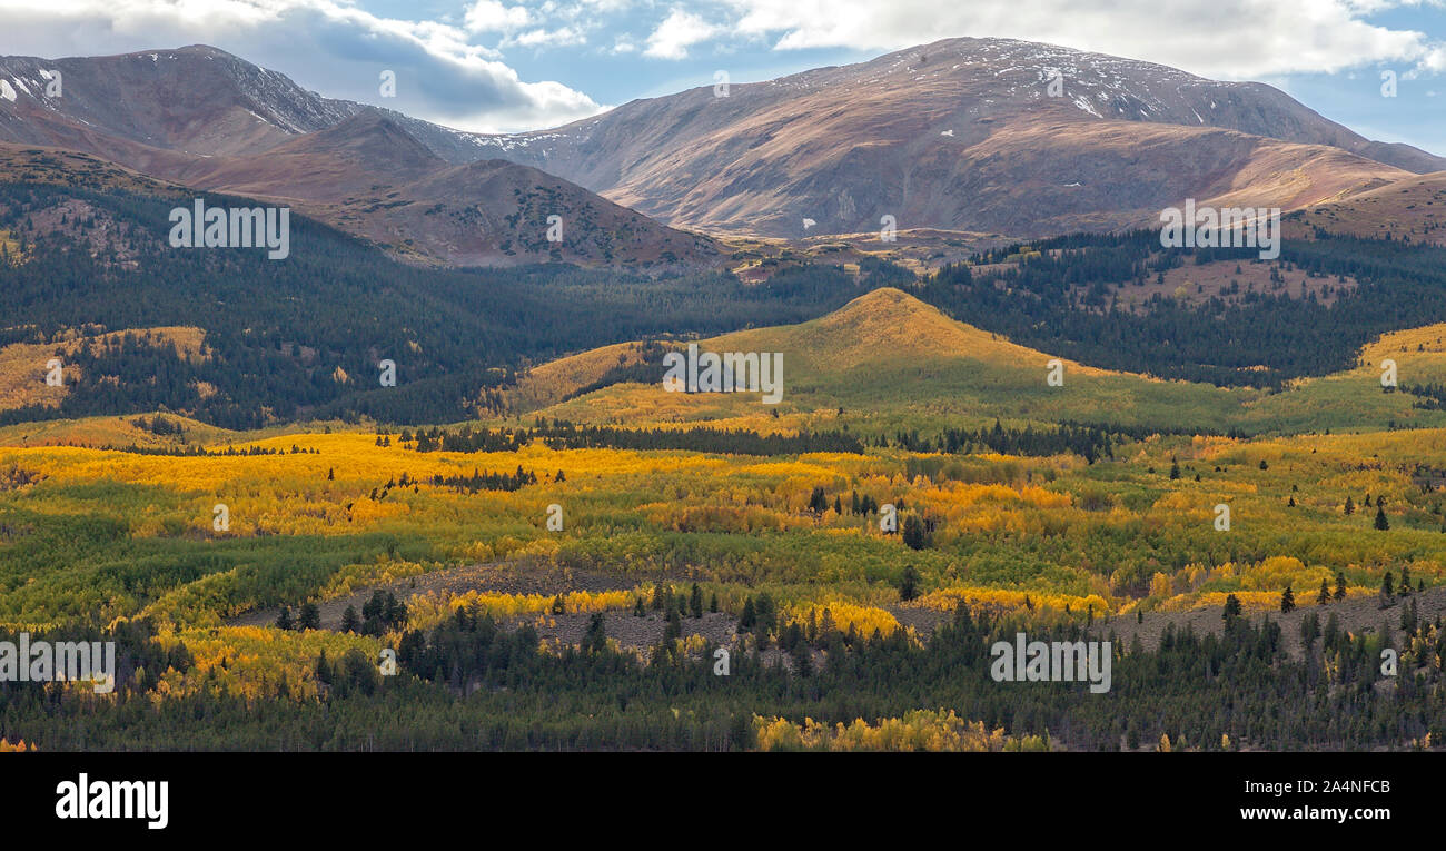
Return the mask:
[[(192, 104), (126, 94), (124, 85), (114, 97), (85, 94), (95, 74), (87, 62), (107, 74), (120, 65), (111, 75), (140, 88), (162, 90), (174, 85), (163, 82), (166, 74), (181, 74), (211, 96)], [(35, 97), (43, 67), (67, 74), (62, 106)], [(17, 100), (0, 101), (0, 139), (80, 149), (168, 179), (210, 174), (213, 188), (282, 194), (285, 187), (195, 158), (250, 158), (262, 164), (265, 182), (259, 155), (295, 161), (298, 137), (372, 127), (353, 120), (375, 113), (406, 139), (382, 145), (369, 135), (373, 149), (364, 158), (340, 156), (346, 142), (333, 140), (324, 159), (340, 171), (312, 172), (312, 192), (324, 192), (325, 179), (348, 192), (364, 181), (395, 191), (416, 177), (409, 169), (425, 159), (422, 146), (454, 166), (490, 158), (529, 165), (674, 226), (787, 237), (876, 232), (885, 214), (901, 229), (1025, 237), (1109, 230), (1154, 224), (1160, 208), (1184, 198), (1296, 210), (1446, 169), (1446, 159), (1364, 139), (1268, 85), (1005, 39), (947, 39), (857, 65), (735, 84), (729, 97), (694, 88), (552, 130), (500, 136), (324, 98), (205, 46), (0, 59), (0, 80), (7, 74), (17, 74)], [(1050, 96), (1056, 75), (1060, 97)], [(77, 85), (82, 91), (72, 98)], [(134, 103), (149, 124), (100, 100)], [(211, 132), (210, 123), (228, 132)], [(347, 162), (380, 169), (346, 174)], [(441, 174), (442, 164), (432, 165)], [(307, 177), (289, 171), (292, 179)], [(386, 194), (363, 208), (395, 201)], [(328, 203), (344, 201), (328, 195)], [(805, 227), (805, 219), (816, 224)]]

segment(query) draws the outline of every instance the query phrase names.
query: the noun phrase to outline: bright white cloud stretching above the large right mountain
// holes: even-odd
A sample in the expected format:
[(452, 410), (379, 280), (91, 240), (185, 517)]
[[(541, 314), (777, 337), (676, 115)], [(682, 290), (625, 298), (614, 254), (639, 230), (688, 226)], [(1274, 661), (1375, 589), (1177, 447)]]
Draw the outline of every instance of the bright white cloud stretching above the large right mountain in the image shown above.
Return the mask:
[(956, 36), (1050, 42), (1223, 80), (1335, 72), (1374, 62), (1439, 67), (1442, 42), (1366, 16), (1413, 0), (723, 0), (729, 27), (778, 49), (892, 51)]

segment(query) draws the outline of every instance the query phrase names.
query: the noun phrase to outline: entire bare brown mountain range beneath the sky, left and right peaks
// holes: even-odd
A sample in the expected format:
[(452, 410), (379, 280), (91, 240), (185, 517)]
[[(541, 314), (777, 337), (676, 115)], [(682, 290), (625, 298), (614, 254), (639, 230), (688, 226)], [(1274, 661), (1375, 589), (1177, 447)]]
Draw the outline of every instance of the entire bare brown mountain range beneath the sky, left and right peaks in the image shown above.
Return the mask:
[[(51, 71), (62, 97), (45, 96)], [(717, 265), (719, 236), (876, 233), (886, 216), (1034, 239), (1148, 227), (1186, 198), (1330, 204), (1349, 220), (1339, 207), (1352, 198), (1446, 171), (1446, 158), (1365, 139), (1270, 85), (1008, 39), (700, 87), (515, 135), (327, 98), (200, 45), (7, 56), (0, 84), (0, 145), (285, 201), (453, 265)], [(545, 239), (554, 214), (561, 243)]]

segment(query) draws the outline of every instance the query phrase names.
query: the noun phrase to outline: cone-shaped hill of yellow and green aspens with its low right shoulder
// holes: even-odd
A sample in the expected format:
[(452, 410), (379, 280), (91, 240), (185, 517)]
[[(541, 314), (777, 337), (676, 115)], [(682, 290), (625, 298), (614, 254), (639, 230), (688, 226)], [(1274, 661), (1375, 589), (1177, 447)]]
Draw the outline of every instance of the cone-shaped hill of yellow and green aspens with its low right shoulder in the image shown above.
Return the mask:
[[(1417, 399), (1407, 394), (1382, 392), (1375, 363), (1378, 355), (1392, 352), (1401, 384), (1427, 384), (1430, 376), (1446, 375), (1442, 346), (1426, 346), (1437, 337), (1446, 337), (1442, 326), (1388, 334), (1362, 352), (1364, 366), (1300, 381), (1277, 394), (1161, 381), (1067, 359), (1060, 359), (1063, 386), (1050, 386), (1054, 356), (957, 323), (901, 289), (884, 288), (813, 321), (698, 342), (706, 352), (782, 353), (784, 398), (778, 405), (763, 405), (759, 394), (678, 394), (661, 384), (620, 382), (538, 412), (591, 424), (722, 420), (753, 427), (772, 421), (779, 428), (849, 426), (866, 433), (928, 431), (993, 418), (1222, 433), (1426, 427), (1446, 424), (1446, 415), (1413, 408)], [(551, 398), (561, 399), (568, 382), (574, 389), (597, 382), (613, 363), (635, 359), (636, 352), (623, 346), (567, 357), (534, 371), (534, 381), (547, 382)]]

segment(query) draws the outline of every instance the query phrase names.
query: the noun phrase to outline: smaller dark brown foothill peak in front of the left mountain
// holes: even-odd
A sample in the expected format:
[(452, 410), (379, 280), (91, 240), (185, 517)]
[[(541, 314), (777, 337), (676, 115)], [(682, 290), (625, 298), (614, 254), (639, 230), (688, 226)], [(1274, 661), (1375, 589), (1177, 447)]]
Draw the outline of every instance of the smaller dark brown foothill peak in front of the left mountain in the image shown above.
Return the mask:
[[(707, 237), (664, 227), (574, 184), (500, 159), (451, 165), (392, 117), (363, 110), (263, 153), (205, 158), (188, 185), (289, 203), (402, 255), (453, 265), (565, 261), (700, 265)], [(548, 240), (549, 217), (561, 239)]]

